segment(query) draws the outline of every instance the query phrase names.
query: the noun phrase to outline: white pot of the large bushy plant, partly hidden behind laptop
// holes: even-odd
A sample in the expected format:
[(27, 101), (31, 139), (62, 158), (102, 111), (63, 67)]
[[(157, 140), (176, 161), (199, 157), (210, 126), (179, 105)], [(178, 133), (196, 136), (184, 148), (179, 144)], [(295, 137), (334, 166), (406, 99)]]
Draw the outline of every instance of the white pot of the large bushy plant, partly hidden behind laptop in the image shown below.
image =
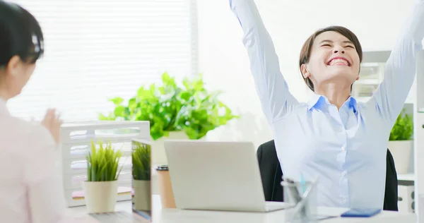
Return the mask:
[(167, 164), (164, 140), (187, 140), (189, 137), (183, 131), (170, 132), (168, 137), (162, 137), (158, 140), (152, 141), (152, 164), (155, 166)]

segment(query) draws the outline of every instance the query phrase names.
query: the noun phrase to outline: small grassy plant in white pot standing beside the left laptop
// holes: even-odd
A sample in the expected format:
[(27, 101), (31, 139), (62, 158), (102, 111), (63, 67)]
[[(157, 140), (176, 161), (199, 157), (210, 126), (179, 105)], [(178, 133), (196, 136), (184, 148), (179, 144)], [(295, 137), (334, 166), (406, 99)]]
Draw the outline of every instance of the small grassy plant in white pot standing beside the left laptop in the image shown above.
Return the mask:
[(99, 148), (91, 142), (91, 150), (86, 155), (87, 181), (83, 181), (84, 198), (89, 213), (114, 212), (117, 201), (119, 159), (122, 152), (115, 151), (111, 143)]

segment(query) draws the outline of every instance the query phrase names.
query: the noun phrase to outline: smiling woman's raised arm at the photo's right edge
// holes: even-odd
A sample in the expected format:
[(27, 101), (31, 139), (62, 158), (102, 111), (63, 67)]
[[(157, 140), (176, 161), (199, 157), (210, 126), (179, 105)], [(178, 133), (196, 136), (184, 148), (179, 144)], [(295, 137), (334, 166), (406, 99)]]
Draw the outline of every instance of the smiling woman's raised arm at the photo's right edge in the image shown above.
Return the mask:
[(416, 59), (423, 48), (423, 37), (424, 0), (416, 0), (385, 64), (384, 80), (369, 102), (375, 105), (384, 119), (394, 122), (404, 107), (416, 75)]

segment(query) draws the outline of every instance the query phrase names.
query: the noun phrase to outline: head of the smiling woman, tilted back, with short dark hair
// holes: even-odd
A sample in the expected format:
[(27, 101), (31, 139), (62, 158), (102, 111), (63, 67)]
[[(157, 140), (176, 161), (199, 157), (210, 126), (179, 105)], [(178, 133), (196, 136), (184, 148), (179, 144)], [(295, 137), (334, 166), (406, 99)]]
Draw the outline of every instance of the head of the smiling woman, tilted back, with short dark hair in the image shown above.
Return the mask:
[(326, 83), (350, 87), (359, 78), (362, 49), (358, 39), (346, 28), (345, 35), (334, 27), (327, 29), (312, 35), (302, 48), (300, 71), (311, 90)]

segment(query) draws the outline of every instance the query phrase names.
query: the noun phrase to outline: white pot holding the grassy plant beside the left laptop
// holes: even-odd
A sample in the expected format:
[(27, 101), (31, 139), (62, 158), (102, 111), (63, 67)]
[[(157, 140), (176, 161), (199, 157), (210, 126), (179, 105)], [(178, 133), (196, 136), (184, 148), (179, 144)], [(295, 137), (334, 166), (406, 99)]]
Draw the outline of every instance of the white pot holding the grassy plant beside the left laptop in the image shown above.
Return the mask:
[(88, 213), (114, 212), (118, 181), (84, 181), (83, 190)]

